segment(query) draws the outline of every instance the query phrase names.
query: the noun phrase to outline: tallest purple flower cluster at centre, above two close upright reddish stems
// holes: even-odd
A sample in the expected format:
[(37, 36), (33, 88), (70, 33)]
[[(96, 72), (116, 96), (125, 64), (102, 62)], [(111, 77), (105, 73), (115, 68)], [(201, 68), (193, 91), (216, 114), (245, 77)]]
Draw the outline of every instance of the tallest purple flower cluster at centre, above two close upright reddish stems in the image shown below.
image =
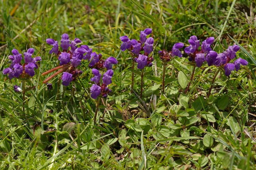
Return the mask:
[[(120, 37), (120, 40), (123, 42), (120, 49), (122, 51), (129, 50), (133, 54), (133, 60), (138, 63), (138, 69), (143, 69), (145, 66), (151, 67), (154, 61), (154, 58), (150, 56), (153, 51), (154, 38), (147, 38), (147, 35), (151, 33), (152, 29), (150, 28), (141, 31), (139, 41), (136, 39), (130, 40), (126, 35)], [(142, 51), (144, 51), (143, 54), (141, 53)]]

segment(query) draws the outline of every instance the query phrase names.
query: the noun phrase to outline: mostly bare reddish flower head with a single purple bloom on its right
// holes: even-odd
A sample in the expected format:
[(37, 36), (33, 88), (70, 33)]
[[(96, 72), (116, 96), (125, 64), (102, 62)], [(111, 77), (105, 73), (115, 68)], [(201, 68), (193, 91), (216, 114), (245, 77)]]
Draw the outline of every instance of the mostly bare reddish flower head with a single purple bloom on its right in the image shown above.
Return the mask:
[(174, 58), (175, 56), (182, 57), (182, 53), (179, 49), (181, 49), (184, 46), (183, 43), (176, 43), (172, 47), (172, 51), (166, 51), (165, 49), (158, 51), (160, 60), (163, 62), (169, 62), (171, 58)]

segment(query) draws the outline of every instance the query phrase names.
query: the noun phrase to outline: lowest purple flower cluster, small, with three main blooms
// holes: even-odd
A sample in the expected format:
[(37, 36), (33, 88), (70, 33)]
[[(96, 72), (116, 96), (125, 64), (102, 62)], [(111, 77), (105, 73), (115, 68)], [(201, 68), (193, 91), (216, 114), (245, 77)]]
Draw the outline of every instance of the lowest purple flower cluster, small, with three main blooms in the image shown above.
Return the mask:
[(96, 99), (98, 96), (102, 96), (103, 98), (106, 98), (108, 94), (112, 91), (108, 88), (108, 85), (112, 83), (112, 76), (114, 74), (113, 70), (107, 70), (102, 77), (102, 84), (100, 84), (101, 74), (99, 70), (93, 68), (92, 72), (94, 74), (94, 77), (90, 80), (94, 82), (90, 88), (91, 98)]

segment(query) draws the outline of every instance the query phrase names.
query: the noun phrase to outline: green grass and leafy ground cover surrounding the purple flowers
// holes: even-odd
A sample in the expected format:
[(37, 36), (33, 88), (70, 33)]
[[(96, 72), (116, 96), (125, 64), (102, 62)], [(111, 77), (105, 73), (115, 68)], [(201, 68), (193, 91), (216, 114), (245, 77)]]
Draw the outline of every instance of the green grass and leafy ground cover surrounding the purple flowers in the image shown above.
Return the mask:
[[(22, 94), (13, 90), (22, 82), (0, 74), (0, 169), (256, 169), (255, 6), (255, 0), (1, 1), (0, 70), (14, 48), (34, 48), (42, 61), (26, 82), (36, 88), (26, 93), (25, 112)], [(138, 39), (145, 28), (153, 29), (155, 61), (145, 70), (140, 100), (130, 94), (131, 56), (120, 50), (119, 37)], [(68, 87), (60, 77), (51, 91), (42, 83), (41, 73), (59, 64), (45, 39), (60, 41), (63, 33), (118, 60), (113, 92), (106, 106), (101, 103), (96, 125), (87, 61)], [(214, 36), (216, 52), (236, 43), (238, 57), (249, 62), (230, 78), (220, 72), (210, 99), (218, 68), (196, 68), (185, 95), (177, 80), (182, 71), (188, 82), (193, 70), (185, 57), (168, 64), (166, 92), (160, 92), (157, 52), (177, 42), (187, 46), (191, 35)], [(137, 74), (134, 91), (140, 92)]]

